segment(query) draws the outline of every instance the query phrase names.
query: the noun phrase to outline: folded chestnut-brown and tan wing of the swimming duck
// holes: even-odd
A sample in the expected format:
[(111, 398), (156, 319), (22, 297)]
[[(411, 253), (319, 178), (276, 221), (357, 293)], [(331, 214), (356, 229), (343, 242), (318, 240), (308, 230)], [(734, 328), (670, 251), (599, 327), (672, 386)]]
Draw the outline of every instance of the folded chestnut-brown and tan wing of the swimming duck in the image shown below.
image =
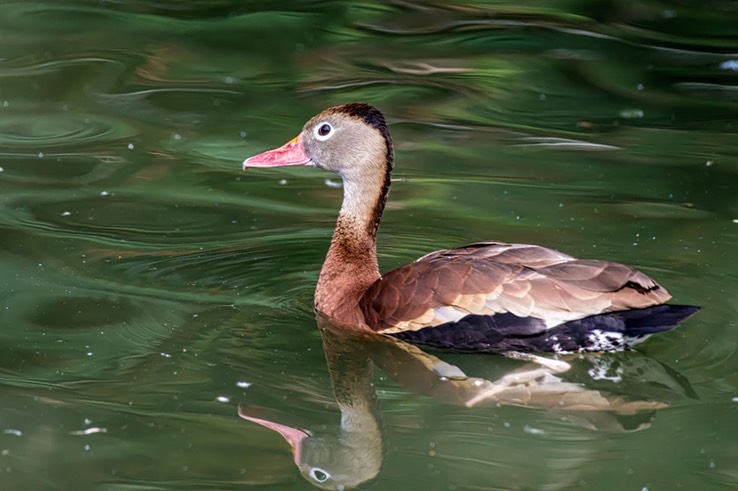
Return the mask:
[(645, 274), (618, 263), (579, 260), (544, 247), (483, 242), (436, 251), (390, 271), (366, 291), (367, 324), (393, 333), (512, 313), (552, 327), (671, 298)]

